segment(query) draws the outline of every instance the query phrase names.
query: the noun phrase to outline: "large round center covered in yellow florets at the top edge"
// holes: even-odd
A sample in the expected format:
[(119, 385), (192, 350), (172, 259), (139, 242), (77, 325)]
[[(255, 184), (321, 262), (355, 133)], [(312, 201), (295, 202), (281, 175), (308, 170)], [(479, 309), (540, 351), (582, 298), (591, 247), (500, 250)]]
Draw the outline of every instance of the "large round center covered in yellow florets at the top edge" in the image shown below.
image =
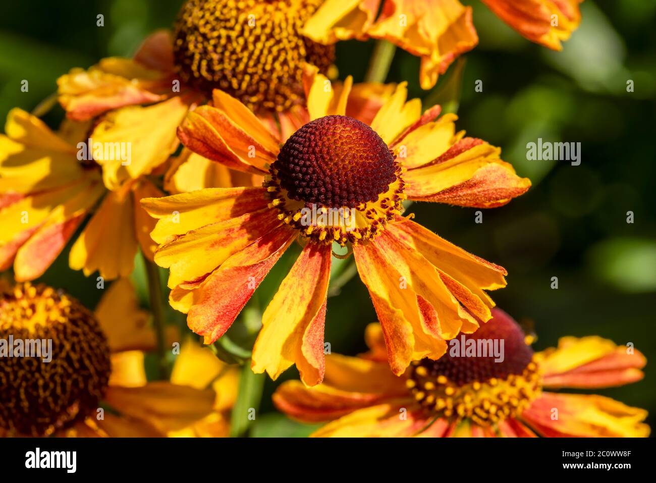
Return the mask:
[(302, 66), (325, 74), (333, 46), (300, 35), (323, 0), (188, 0), (175, 26), (182, 81), (211, 96), (222, 89), (253, 111), (283, 111), (304, 99)]

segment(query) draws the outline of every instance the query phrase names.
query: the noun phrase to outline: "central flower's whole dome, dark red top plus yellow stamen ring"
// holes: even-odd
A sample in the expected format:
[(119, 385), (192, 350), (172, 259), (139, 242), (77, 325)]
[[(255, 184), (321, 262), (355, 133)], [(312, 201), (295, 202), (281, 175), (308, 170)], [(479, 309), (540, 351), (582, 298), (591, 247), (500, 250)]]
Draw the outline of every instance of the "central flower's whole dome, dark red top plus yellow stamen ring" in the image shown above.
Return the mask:
[(307, 123), (281, 148), (264, 186), (281, 214), (315, 241), (371, 239), (401, 213), (401, 167), (380, 136), (348, 116)]

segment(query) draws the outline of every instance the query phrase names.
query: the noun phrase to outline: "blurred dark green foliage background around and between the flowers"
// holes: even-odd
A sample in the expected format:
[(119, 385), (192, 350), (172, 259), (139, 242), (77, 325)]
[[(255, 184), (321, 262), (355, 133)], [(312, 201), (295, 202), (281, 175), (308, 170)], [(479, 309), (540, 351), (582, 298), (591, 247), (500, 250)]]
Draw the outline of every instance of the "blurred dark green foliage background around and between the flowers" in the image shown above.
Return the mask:
[[(508, 287), (493, 293), (499, 307), (539, 336), (535, 347), (563, 335), (597, 334), (634, 343), (651, 364), (646, 379), (598, 390), (656, 414), (656, 2), (584, 1), (583, 23), (548, 51), (520, 37), (479, 1), (474, 24), (480, 45), (451, 66), (433, 91), (419, 88), (419, 59), (397, 50), (388, 81), (408, 81), (411, 96), (443, 102), (468, 135), (501, 146), (502, 158), (529, 177), (533, 188), (506, 207), (483, 211), (420, 203), (417, 221), (509, 272)], [(173, 24), (180, 0), (64, 2), (26, 0), (0, 5), (0, 117), (33, 109), (54, 93), (56, 78), (104, 56), (129, 56), (156, 28)], [(104, 27), (96, 15), (104, 14)], [(361, 81), (373, 43), (337, 46), (340, 77)], [(28, 93), (20, 91), (22, 79)], [(474, 91), (477, 80), (483, 92)], [(627, 93), (626, 83), (634, 82)], [(424, 106), (427, 107), (427, 106)], [(59, 108), (46, 120), (56, 125)], [(582, 161), (528, 161), (527, 142), (581, 142)], [(626, 222), (627, 212), (634, 223)], [(74, 240), (74, 238), (73, 238)], [(68, 268), (68, 249), (42, 280), (94, 306), (95, 278)], [(281, 264), (289, 263), (286, 257)], [(137, 267), (140, 290), (142, 267)], [(551, 278), (558, 277), (558, 289)], [(266, 280), (275, 285), (276, 280)], [(265, 287), (266, 288), (266, 287)], [(169, 313), (184, 326), (184, 316)], [(376, 320), (367, 291), (353, 278), (328, 301), (326, 341), (333, 352), (365, 349), (363, 329)], [(281, 379), (296, 377), (290, 369)], [(267, 381), (256, 436), (301, 435), (308, 428), (274, 412)], [(586, 392), (586, 391), (577, 391)], [(588, 391), (589, 392), (589, 391)]]

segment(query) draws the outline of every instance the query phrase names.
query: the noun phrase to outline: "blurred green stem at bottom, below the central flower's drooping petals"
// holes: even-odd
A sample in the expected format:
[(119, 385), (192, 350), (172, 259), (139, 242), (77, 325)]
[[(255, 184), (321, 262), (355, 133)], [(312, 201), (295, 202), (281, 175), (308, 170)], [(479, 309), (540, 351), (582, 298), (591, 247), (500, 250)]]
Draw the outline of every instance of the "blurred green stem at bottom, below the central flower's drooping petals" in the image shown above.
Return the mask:
[(239, 377), (239, 392), (237, 401), (232, 408), (230, 417), (230, 436), (242, 438), (248, 435), (248, 431), (258, 417), (264, 389), (264, 374), (255, 374), (251, 371), (251, 360), (247, 360), (241, 369)]

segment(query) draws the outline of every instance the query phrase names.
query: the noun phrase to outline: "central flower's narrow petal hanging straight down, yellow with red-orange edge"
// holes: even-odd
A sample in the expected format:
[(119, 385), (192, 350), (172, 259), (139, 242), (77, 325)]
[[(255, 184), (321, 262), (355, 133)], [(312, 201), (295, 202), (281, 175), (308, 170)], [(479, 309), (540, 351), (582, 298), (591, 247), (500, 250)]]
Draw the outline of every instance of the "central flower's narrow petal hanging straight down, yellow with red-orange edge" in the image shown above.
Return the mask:
[(252, 369), (277, 377), (296, 364), (306, 385), (323, 379), (323, 324), (331, 245), (308, 243), (262, 315)]

